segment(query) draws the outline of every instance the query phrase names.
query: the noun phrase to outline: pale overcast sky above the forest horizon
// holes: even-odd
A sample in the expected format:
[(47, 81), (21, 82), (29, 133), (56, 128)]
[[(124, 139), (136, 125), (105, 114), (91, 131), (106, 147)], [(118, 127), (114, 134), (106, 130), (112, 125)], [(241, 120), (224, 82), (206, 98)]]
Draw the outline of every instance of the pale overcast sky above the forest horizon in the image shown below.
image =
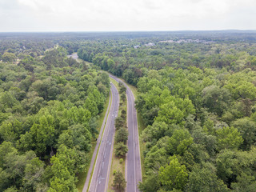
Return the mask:
[(256, 0), (0, 0), (0, 32), (256, 30)]

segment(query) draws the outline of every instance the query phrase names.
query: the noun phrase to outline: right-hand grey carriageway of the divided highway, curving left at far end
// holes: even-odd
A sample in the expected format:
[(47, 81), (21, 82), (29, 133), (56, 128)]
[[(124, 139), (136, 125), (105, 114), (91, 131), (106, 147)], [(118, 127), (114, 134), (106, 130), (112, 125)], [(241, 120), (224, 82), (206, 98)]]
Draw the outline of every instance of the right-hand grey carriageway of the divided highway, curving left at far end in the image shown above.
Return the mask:
[(127, 95), (127, 125), (128, 125), (128, 153), (126, 158), (126, 192), (138, 192), (138, 182), (142, 182), (142, 166), (138, 140), (137, 112), (135, 110), (135, 98), (129, 86), (121, 79), (109, 74), (117, 82), (126, 86)]

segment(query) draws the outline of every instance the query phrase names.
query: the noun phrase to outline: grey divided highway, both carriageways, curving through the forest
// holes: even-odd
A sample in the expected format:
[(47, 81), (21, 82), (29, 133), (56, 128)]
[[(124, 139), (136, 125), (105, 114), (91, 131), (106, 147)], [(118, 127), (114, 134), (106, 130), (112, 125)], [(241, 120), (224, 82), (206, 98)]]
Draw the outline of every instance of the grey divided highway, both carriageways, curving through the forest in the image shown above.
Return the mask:
[[(69, 55), (74, 59), (78, 59), (78, 54)], [(140, 158), (139, 140), (138, 140), (138, 121), (137, 111), (135, 110), (135, 98), (129, 86), (121, 79), (109, 74), (117, 82), (122, 82), (126, 86), (127, 95), (127, 126), (128, 126), (128, 153), (126, 155), (126, 192), (138, 192), (138, 182), (142, 182), (142, 166)], [(98, 141), (95, 147), (93, 158), (90, 163), (90, 169), (86, 177), (86, 183), (82, 192), (86, 192), (89, 182), (90, 174), (94, 167), (94, 173), (90, 182), (89, 192), (103, 192), (107, 191), (107, 186), (110, 177), (110, 166), (112, 161), (113, 147), (114, 147), (114, 119), (118, 116), (119, 94), (117, 88), (111, 83), (112, 102), (108, 117), (105, 117), (106, 127), (103, 133), (102, 142)], [(107, 110), (108, 111), (108, 110)], [(106, 119), (107, 118), (107, 119)], [(104, 125), (102, 125), (98, 140), (102, 135)], [(99, 150), (98, 150), (98, 145)], [(94, 159), (97, 154), (96, 163), (94, 166)]]

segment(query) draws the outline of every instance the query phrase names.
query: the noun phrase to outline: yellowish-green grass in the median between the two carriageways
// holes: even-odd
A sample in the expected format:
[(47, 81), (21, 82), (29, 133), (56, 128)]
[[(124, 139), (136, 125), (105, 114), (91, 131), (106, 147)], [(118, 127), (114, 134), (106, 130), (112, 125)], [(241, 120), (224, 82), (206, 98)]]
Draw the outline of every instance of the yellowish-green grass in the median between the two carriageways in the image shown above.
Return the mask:
[[(118, 82), (116, 82), (114, 79), (110, 78), (110, 82), (112, 82), (114, 84), (114, 86), (116, 86), (116, 88), (118, 89), (118, 92), (120, 90), (120, 87), (118, 86)], [(127, 102), (122, 103), (122, 106), (119, 106), (118, 109), (118, 116), (121, 115), (121, 111), (122, 110), (126, 110), (127, 112)], [(117, 145), (117, 142), (114, 140), (114, 148)], [(114, 170), (118, 171), (120, 170), (123, 174), (123, 176), (125, 177), (126, 175), (126, 157), (123, 158), (123, 162), (120, 163), (119, 162), (118, 157), (115, 156), (114, 154), (114, 150), (113, 150), (113, 154), (112, 154), (112, 162), (111, 162), (111, 167), (110, 167), (110, 179), (109, 179), (109, 183), (108, 183), (108, 187), (107, 187), (107, 191), (108, 192), (113, 192), (115, 191), (112, 187), (112, 183), (114, 182)]]

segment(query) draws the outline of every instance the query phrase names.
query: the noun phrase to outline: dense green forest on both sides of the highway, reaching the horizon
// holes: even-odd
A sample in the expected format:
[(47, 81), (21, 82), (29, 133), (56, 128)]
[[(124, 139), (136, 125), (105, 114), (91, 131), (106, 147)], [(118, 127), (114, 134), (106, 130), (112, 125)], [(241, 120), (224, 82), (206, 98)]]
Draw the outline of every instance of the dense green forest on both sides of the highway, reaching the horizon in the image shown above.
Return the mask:
[(138, 90), (140, 190), (255, 191), (254, 32), (1, 34), (0, 55), (0, 191), (76, 191), (101, 70)]

